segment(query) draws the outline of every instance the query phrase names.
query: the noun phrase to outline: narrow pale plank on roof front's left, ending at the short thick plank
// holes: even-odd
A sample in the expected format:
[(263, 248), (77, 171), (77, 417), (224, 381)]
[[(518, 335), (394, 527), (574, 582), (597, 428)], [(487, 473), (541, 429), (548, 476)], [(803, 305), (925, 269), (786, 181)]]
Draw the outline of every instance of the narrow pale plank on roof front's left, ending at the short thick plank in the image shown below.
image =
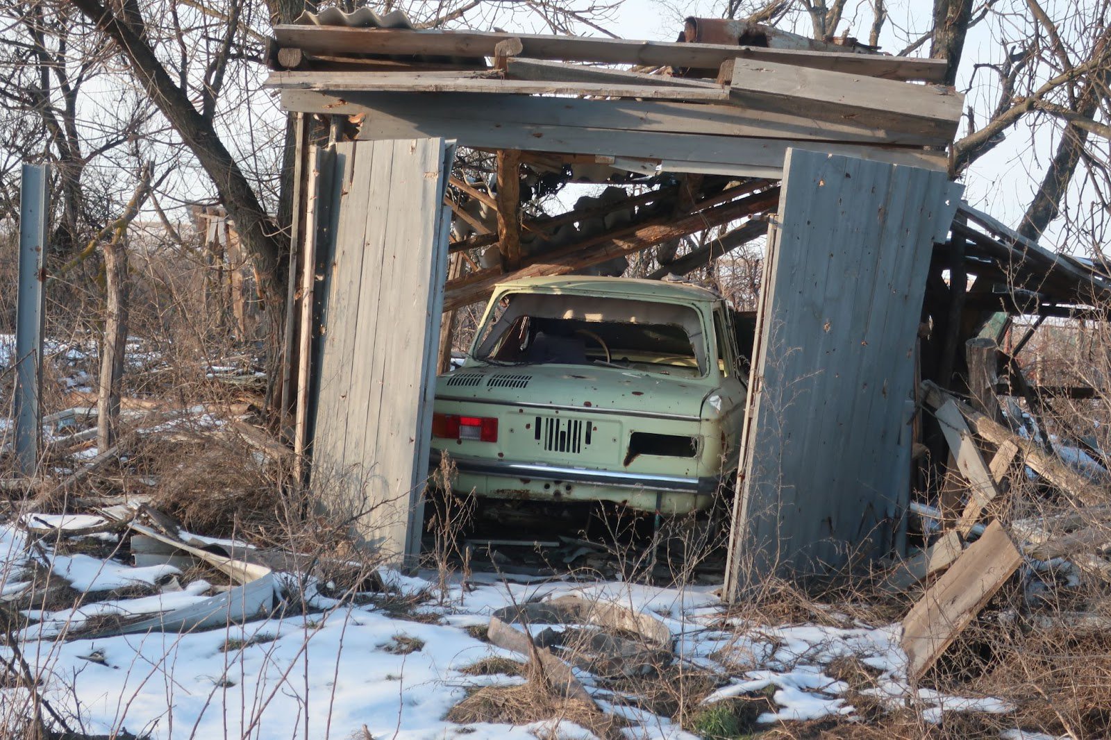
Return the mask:
[(263, 83), (279, 90), (469, 92), (524, 96), (595, 96), (643, 100), (729, 100), (724, 88), (655, 87), (620, 82), (500, 80), (488, 72), (271, 72)]

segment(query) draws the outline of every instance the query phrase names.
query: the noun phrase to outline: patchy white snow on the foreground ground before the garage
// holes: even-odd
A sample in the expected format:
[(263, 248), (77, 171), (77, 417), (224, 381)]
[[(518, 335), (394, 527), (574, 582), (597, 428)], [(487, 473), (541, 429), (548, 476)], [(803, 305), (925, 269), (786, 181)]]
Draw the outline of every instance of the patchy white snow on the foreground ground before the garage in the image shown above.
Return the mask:
[[(37, 523), (42, 522), (56, 527), (91, 523), (78, 517), (38, 517)], [(49, 542), (47, 538), (41, 544)], [(9, 587), (14, 589), (23, 578), (31, 557), (21, 531), (0, 528), (0, 557), (7, 563), (0, 593), (8, 593)], [(77, 609), (24, 612), (41, 621), (23, 632), (23, 656), (42, 678), (46, 697), (56, 708), (79, 712), (89, 732), (126, 728), (154, 738), (344, 739), (352, 733), (363, 737), (366, 726), (371, 737), (399, 740), (548, 737), (551, 722), (461, 727), (444, 716), (468, 689), (523, 680), (461, 672), (483, 658), (513, 657), (472, 637), (467, 628), (488, 623), (490, 613), (501, 607), (569, 593), (660, 617), (675, 638), (679, 657), (729, 677), (705, 699), (708, 703), (774, 687), (777, 711), (761, 716), (761, 722), (851, 717), (855, 710), (843, 696), (849, 687), (825, 672), (830, 661), (847, 656), (880, 672), (872, 696), (892, 707), (910, 700), (928, 721), (939, 721), (943, 711), (1009, 710), (990, 698), (947, 697), (909, 687), (901, 678), (905, 657), (899, 648), (898, 624), (728, 623), (711, 587), (668, 589), (548, 580), (506, 583), (493, 574), (479, 573), (468, 589), (456, 582), (443, 599), (438, 599), (431, 573), (426, 579), (383, 570), (391, 588), (427, 597), (414, 612), (431, 618), (428, 623), (390, 616), (373, 604), (340, 604), (318, 596), (310, 599), (324, 609), (318, 613), (186, 634), (56, 641), (63, 630), (72, 631), (94, 617), (129, 617), (197, 603), (211, 594), (211, 587), (194, 581), (180, 588), (176, 579), (180, 572), (169, 566), (131, 568), (83, 554), (52, 553), (49, 547), (46, 551), (50, 562), (43, 564), (51, 566), (76, 589), (107, 591), (141, 584), (153, 592), (133, 599), (88, 601)], [(168, 581), (172, 588), (167, 588)], [(444, 603), (448, 606), (441, 606)], [(417, 649), (407, 652), (399, 649), (403, 644)], [(6, 649), (0, 649), (0, 654), (6, 654)], [(740, 668), (734, 663), (731, 671), (719, 662), (722, 654), (748, 663)], [(589, 674), (580, 676), (603, 710), (632, 723), (624, 730), (630, 740), (693, 737), (669, 719), (594, 686)], [(556, 737), (591, 736), (562, 722)]]

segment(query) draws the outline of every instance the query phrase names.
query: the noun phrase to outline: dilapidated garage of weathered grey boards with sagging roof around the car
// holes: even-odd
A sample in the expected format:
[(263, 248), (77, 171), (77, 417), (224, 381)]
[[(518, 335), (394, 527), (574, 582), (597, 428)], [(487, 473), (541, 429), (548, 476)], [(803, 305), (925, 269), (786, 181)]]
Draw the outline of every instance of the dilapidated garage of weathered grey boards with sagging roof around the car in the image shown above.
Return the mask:
[[(733, 224), (664, 272), (681, 273), (768, 234), (731, 591), (903, 550), (912, 456), (944, 462), (918, 381), (967, 392), (964, 343), (993, 312), (1108, 296), (1090, 266), (960, 203), (943, 62), (759, 27), (720, 40), (767, 46), (302, 21), (276, 29), (269, 81), (300, 113), (284, 403), (337, 509), (398, 560), (419, 551), (441, 314), (501, 281)], [(451, 176), (457, 148), (496, 157), (493, 196)], [(523, 213), (522, 172), (613, 197)]]

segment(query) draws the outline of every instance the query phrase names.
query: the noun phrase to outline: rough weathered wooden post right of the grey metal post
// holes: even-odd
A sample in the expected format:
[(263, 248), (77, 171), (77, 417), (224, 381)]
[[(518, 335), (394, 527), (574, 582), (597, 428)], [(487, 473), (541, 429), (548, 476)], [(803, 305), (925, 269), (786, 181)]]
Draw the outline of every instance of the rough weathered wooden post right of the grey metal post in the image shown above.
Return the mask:
[(97, 448), (103, 452), (116, 444), (120, 416), (120, 383), (128, 342), (128, 256), (123, 230), (104, 243), (104, 284), (108, 306), (104, 338), (100, 351), (100, 388), (97, 398)]

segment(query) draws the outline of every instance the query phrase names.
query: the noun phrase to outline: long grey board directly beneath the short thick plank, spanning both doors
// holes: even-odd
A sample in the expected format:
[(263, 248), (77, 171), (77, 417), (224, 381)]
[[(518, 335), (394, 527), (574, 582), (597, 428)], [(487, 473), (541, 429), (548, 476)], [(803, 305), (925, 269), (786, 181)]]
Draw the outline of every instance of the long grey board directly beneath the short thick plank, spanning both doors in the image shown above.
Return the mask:
[[(627, 132), (659, 132), (748, 137), (754, 139), (780, 138), (802, 141), (831, 141), (842, 143), (871, 143), (877, 146), (943, 146), (948, 137), (928, 137), (921, 132), (899, 132), (870, 124), (867, 121), (820, 121), (810, 116), (793, 116), (769, 111), (747, 110), (737, 106), (713, 103), (684, 103), (659, 100), (582, 100), (577, 98), (539, 98), (494, 94), (474, 104), (467, 93), (428, 94), (419, 92), (351, 92), (328, 94), (309, 90), (282, 91), (282, 106), (289, 110), (314, 113), (354, 116), (366, 113), (362, 128), (387, 123), (446, 126), (457, 129), (494, 128), (504, 143), (493, 143), (491, 149), (544, 150), (542, 142), (529, 147), (518, 146), (509, 127), (572, 127), (610, 129)], [(532, 137), (530, 130), (527, 138)], [(592, 156), (627, 156), (645, 158), (635, 150), (621, 148), (621, 153), (597, 151)], [(568, 153), (588, 153), (582, 152)], [(689, 157), (689, 159), (697, 159)], [(703, 157), (702, 160), (711, 160)]]

